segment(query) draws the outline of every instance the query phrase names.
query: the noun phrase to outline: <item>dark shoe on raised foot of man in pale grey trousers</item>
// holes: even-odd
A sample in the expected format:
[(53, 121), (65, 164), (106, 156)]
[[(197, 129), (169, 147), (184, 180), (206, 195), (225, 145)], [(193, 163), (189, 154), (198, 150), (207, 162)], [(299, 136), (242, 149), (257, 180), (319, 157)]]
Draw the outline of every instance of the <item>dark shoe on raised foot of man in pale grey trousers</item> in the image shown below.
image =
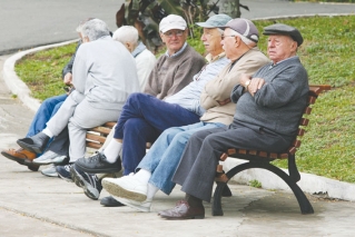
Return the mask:
[(46, 149), (49, 137), (43, 132), (39, 132), (29, 138), (18, 139), (17, 144), (26, 150), (34, 154), (41, 154)]

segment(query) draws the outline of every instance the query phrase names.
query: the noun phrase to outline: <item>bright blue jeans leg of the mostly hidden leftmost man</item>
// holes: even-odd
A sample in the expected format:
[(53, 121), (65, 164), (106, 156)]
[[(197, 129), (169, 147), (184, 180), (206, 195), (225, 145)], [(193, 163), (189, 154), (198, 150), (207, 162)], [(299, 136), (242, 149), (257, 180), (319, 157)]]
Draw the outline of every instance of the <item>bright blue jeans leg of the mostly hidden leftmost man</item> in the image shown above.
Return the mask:
[(46, 128), (47, 121), (56, 115), (66, 99), (67, 93), (46, 99), (37, 110), (26, 137), (32, 137), (42, 131)]

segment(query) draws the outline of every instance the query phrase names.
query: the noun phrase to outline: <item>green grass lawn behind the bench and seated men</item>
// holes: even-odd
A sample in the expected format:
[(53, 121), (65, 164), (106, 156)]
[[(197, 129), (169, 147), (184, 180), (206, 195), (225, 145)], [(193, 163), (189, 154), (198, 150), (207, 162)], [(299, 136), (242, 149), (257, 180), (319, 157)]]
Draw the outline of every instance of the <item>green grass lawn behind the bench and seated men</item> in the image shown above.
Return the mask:
[[(312, 17), (277, 20), (297, 27), (304, 36), (298, 56), (306, 67), (309, 83), (331, 85), (321, 95), (306, 128), (303, 145), (296, 154), (300, 171), (355, 182), (355, 16)], [(256, 21), (259, 31), (274, 21)], [(266, 52), (266, 37), (259, 48)], [(197, 39), (190, 45), (200, 52)], [(46, 99), (63, 93), (61, 69), (76, 45), (38, 52), (19, 61), (16, 71), (30, 87), (32, 96)], [(203, 52), (201, 52), (203, 53)], [(285, 161), (277, 166), (287, 167)]]

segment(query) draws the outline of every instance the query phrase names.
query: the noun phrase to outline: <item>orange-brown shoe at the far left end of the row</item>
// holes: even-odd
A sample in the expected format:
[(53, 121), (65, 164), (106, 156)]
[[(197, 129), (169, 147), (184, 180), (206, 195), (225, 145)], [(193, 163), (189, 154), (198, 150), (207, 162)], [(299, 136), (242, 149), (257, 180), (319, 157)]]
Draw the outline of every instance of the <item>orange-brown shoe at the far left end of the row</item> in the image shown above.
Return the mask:
[(19, 148), (2, 150), (1, 155), (8, 159), (17, 161), (20, 165), (27, 166), (30, 170), (37, 171), (39, 166), (34, 165), (32, 160), (37, 157), (37, 154)]

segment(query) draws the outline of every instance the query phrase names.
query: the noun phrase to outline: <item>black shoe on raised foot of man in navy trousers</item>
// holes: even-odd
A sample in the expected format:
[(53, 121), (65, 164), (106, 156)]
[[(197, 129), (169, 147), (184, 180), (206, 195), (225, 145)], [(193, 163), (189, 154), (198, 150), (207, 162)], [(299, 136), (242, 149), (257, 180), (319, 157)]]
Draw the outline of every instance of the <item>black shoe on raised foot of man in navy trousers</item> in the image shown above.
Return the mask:
[(103, 152), (96, 152), (91, 157), (78, 159), (76, 167), (89, 174), (118, 172), (122, 168), (119, 157), (116, 162), (108, 162)]

